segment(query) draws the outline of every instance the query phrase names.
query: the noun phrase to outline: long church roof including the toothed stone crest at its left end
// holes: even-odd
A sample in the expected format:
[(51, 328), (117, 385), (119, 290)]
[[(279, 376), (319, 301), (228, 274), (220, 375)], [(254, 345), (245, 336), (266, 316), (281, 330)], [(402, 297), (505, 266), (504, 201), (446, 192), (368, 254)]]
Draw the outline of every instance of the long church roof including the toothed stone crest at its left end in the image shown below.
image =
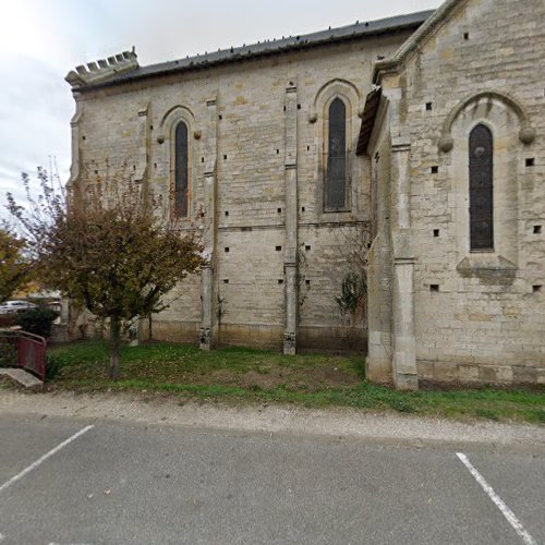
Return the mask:
[(74, 90), (87, 90), (98, 87), (118, 85), (157, 75), (175, 72), (206, 69), (222, 63), (242, 61), (249, 58), (277, 55), (287, 51), (301, 50), (325, 44), (349, 41), (365, 36), (390, 34), (402, 29), (415, 29), (426, 21), (434, 11), (421, 11), (408, 15), (382, 19), (378, 21), (356, 22), (352, 25), (329, 28), (301, 36), (265, 40), (250, 46), (232, 47), (216, 52), (186, 57), (175, 61), (140, 66), (136, 53), (123, 52), (108, 60), (90, 62), (77, 66), (68, 74), (66, 81)]

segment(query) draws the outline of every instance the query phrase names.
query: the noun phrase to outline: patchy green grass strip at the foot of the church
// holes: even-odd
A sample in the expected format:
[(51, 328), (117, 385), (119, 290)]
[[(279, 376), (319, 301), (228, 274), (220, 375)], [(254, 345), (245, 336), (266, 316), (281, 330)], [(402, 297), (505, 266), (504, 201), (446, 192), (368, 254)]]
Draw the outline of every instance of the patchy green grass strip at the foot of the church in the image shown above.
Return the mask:
[(107, 378), (107, 346), (82, 341), (48, 350), (60, 371), (50, 389), (170, 392), (184, 399), (354, 407), (455, 419), (545, 424), (545, 388), (399, 392), (367, 384), (363, 356), (298, 354), (154, 343), (123, 347), (121, 378)]

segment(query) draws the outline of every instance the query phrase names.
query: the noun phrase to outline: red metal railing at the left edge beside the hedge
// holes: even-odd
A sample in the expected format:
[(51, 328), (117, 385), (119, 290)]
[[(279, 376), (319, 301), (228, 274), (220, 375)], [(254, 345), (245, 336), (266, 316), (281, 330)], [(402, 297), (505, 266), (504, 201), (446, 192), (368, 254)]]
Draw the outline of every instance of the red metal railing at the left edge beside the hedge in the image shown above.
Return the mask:
[(41, 380), (46, 379), (44, 337), (27, 331), (0, 331), (0, 366), (23, 367)]

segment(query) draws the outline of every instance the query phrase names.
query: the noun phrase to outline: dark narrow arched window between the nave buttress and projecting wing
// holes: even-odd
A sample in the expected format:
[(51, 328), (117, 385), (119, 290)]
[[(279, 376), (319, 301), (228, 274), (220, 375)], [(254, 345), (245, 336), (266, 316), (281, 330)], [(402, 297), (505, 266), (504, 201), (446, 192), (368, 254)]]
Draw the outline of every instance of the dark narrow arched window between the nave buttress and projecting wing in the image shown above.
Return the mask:
[(347, 202), (347, 107), (340, 98), (329, 106), (324, 208), (339, 210)]

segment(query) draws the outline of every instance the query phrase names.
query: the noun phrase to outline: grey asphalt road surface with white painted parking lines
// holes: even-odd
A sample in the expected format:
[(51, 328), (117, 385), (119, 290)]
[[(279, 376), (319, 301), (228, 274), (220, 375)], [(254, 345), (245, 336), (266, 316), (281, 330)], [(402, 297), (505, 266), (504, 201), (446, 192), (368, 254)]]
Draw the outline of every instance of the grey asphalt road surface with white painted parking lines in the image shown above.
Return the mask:
[(0, 542), (541, 544), (545, 451), (3, 414)]

